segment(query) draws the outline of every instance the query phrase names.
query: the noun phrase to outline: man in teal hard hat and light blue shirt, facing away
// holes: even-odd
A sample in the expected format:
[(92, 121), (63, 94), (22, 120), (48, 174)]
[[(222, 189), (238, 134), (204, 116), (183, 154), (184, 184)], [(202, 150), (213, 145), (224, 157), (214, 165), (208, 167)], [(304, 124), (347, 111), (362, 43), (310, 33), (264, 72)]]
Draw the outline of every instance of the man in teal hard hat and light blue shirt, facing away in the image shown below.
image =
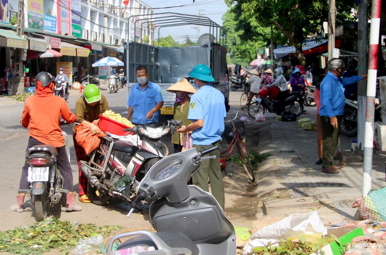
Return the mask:
[[(205, 150), (214, 145), (220, 147), (221, 135), (224, 132), (225, 112), (224, 96), (213, 88), (210, 82), (215, 81), (212, 70), (205, 64), (196, 65), (189, 76), (193, 77), (196, 87), (200, 88), (191, 96), (188, 119), (193, 123), (187, 127), (182, 126), (178, 132), (192, 131), (193, 147), (197, 150)], [(218, 204), (224, 209), (225, 196), (224, 184), (220, 170), (220, 150), (209, 154), (215, 155), (215, 159), (203, 160), (201, 169), (193, 175), (193, 184), (204, 191), (209, 191), (208, 177), (212, 194)]]

